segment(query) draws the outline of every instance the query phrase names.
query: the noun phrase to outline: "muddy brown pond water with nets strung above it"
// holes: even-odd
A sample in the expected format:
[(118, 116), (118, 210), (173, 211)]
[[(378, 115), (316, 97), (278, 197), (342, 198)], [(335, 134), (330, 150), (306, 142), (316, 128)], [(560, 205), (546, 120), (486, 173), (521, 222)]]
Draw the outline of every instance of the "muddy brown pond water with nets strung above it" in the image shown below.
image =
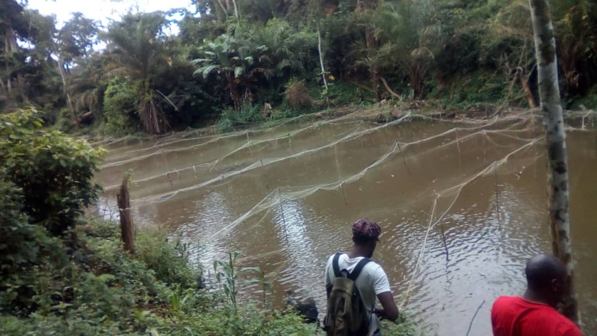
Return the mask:
[[(491, 335), (493, 300), (521, 294), (525, 260), (550, 252), (541, 134), (528, 116), (412, 115), (119, 142), (97, 175), (99, 207), (113, 212), (132, 169), (141, 227), (167, 227), (204, 265), (237, 250), (239, 266), (266, 272), (271, 300), (293, 289), (320, 311), (327, 256), (349, 249), (351, 223), (368, 217), (383, 227), (374, 259), (401, 307), (427, 331), (465, 335), (481, 306), (470, 335)], [(570, 130), (567, 146), (576, 288), (583, 329), (597, 335), (597, 132)]]

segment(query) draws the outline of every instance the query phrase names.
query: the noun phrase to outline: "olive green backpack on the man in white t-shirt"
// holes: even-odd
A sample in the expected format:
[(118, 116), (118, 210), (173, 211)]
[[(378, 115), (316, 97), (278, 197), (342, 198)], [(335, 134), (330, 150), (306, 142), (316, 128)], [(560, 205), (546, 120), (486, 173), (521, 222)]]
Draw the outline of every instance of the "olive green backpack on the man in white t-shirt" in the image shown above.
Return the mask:
[(324, 330), (329, 336), (361, 336), (367, 335), (369, 329), (368, 314), (355, 281), (363, 267), (369, 262), (363, 258), (351, 273), (346, 269), (340, 271), (338, 259), (340, 253), (333, 256), (332, 267), (336, 279), (327, 285), (327, 313)]

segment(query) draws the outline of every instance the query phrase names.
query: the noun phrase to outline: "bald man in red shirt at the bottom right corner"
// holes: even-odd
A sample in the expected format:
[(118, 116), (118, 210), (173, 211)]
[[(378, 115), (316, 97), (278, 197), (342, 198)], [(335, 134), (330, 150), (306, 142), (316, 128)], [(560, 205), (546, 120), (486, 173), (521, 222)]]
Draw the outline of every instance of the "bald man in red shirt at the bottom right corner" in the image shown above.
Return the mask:
[(501, 296), (493, 303), (494, 336), (583, 336), (581, 330), (558, 313), (566, 288), (566, 267), (553, 256), (530, 258), (524, 269), (526, 292), (521, 297)]

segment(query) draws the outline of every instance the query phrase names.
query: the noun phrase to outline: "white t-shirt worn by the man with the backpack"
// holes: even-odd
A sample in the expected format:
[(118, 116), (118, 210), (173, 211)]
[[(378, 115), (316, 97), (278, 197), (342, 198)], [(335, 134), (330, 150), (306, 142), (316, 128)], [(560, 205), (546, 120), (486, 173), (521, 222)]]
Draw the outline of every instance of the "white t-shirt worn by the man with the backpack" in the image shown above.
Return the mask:
[[(328, 258), (327, 264), (325, 265), (326, 286), (327, 284), (333, 284), (333, 280), (336, 279), (336, 276), (333, 273), (333, 267), (331, 266), (333, 256), (335, 256), (335, 254)], [(338, 258), (340, 271), (346, 269), (349, 273), (352, 272), (361, 259), (363, 259), (363, 257), (349, 258), (348, 254), (341, 254), (340, 258)], [(369, 261), (365, 267), (363, 267), (355, 284), (369, 315), (373, 315), (373, 318), (371, 318), (371, 322), (369, 323), (369, 333), (367, 336), (382, 335), (379, 330), (381, 323), (379, 322), (377, 315), (371, 314), (371, 310), (375, 307), (377, 295), (388, 291), (391, 292), (390, 282), (388, 281), (386, 272), (379, 266), (379, 264), (377, 264), (377, 262)]]

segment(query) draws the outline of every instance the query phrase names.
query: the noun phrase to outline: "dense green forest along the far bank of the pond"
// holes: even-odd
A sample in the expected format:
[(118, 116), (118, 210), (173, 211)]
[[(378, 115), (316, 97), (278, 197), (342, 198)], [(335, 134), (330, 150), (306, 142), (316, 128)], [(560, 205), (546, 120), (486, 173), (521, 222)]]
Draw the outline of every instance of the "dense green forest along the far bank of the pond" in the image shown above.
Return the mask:
[[(343, 104), (536, 107), (526, 0), (194, 0), (64, 25), (2, 1), (0, 107), (62, 131), (159, 134)], [(597, 104), (597, 5), (551, 1), (568, 108)], [(171, 27), (178, 27), (172, 34)]]

